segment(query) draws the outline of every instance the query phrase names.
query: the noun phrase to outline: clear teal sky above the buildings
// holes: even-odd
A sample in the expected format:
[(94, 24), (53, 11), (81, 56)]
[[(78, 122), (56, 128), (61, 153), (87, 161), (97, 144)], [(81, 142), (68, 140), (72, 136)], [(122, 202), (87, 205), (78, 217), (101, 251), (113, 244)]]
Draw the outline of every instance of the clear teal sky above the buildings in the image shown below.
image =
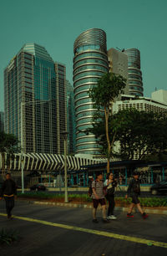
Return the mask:
[(0, 111), (3, 70), (23, 44), (45, 47), (73, 84), (73, 43), (89, 28), (105, 31), (107, 49), (139, 49), (145, 97), (167, 90), (166, 0), (0, 0)]

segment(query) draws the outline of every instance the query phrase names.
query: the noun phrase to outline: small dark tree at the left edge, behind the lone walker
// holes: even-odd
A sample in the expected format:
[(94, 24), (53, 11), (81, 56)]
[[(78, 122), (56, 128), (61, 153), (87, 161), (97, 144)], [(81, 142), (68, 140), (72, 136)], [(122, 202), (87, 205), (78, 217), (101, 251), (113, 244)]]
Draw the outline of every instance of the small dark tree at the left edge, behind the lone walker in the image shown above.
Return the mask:
[[(0, 131), (0, 152), (2, 154), (2, 174), (5, 176), (5, 154), (7, 153), (7, 165), (10, 165), (11, 156), (18, 151), (18, 139), (13, 134)], [(9, 170), (9, 167), (8, 167)]]

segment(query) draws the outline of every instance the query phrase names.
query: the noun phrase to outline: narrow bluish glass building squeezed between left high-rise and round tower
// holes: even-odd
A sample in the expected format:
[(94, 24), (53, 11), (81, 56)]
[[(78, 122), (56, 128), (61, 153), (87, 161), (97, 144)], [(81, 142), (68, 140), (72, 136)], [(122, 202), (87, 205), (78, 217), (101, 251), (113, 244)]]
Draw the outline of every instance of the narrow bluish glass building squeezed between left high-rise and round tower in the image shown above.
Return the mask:
[(74, 94), (73, 85), (66, 81), (67, 88), (67, 126), (68, 126), (68, 153), (75, 153), (76, 143), (76, 123), (75, 123), (75, 110), (74, 110)]

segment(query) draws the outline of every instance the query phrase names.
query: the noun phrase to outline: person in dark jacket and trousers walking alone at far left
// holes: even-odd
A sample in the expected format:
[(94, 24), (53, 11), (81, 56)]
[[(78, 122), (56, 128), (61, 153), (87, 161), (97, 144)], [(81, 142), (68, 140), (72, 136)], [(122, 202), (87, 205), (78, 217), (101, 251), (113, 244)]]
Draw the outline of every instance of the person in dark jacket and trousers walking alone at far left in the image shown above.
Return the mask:
[(14, 197), (17, 196), (17, 187), (16, 183), (11, 179), (10, 173), (6, 174), (6, 180), (3, 182), (3, 185), (0, 190), (0, 200), (5, 199), (7, 218), (12, 219), (12, 210), (14, 207)]

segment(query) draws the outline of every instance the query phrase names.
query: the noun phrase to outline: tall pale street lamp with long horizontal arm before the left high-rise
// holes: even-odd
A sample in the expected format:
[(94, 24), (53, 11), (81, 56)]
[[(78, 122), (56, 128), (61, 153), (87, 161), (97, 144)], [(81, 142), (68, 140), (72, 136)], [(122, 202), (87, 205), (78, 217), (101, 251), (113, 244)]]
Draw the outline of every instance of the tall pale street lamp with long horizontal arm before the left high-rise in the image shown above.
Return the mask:
[(46, 103), (50, 100), (38, 100), (38, 101), (26, 101), (26, 102), (23, 102), (21, 101), (21, 118), (20, 118), (20, 122), (21, 122), (21, 166), (22, 166), (22, 193), (24, 193), (24, 177), (23, 177), (23, 105), (37, 105), (37, 104), (43, 104), (43, 103)]

